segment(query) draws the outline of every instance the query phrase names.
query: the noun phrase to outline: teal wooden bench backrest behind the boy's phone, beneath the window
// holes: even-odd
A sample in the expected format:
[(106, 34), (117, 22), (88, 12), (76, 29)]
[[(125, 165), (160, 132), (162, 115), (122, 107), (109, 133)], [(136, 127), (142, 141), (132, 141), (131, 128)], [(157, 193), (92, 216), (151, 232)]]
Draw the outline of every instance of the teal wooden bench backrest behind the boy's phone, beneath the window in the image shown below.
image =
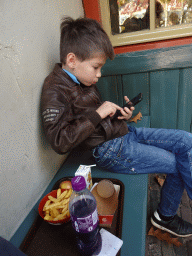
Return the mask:
[(136, 106), (150, 127), (192, 132), (192, 46), (126, 53), (107, 61), (98, 88), (104, 100), (123, 105), (143, 93)]

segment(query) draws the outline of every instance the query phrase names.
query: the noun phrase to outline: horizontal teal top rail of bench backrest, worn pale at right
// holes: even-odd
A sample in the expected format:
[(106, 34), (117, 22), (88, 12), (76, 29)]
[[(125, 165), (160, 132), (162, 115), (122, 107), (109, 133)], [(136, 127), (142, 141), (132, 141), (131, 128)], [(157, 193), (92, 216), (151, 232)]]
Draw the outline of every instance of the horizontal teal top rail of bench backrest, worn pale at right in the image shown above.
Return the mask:
[(192, 45), (117, 55), (107, 60), (102, 75), (124, 75), (192, 67)]

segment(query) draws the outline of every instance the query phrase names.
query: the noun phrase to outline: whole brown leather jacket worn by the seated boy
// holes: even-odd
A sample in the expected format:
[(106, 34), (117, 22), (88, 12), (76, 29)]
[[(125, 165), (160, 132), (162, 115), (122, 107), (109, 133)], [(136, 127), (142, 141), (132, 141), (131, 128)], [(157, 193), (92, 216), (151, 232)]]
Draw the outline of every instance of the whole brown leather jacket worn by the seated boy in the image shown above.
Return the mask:
[(91, 149), (128, 132), (125, 121), (101, 119), (96, 109), (102, 104), (95, 85), (75, 83), (56, 64), (45, 79), (41, 95), (41, 115), (45, 136), (58, 154), (78, 145)]

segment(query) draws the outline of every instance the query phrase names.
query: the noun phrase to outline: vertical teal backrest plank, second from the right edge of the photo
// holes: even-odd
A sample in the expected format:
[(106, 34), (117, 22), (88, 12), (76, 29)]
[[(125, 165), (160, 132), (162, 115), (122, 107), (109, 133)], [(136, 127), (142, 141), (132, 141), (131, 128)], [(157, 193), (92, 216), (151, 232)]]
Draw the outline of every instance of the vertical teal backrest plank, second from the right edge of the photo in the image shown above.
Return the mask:
[(179, 70), (150, 73), (150, 117), (153, 128), (177, 128)]

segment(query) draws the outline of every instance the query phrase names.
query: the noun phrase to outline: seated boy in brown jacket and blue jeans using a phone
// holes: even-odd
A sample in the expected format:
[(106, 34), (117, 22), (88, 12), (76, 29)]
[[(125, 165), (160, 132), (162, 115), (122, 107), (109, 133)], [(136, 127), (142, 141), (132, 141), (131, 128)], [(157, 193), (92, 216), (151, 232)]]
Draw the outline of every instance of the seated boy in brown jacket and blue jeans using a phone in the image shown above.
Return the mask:
[[(78, 145), (91, 149), (109, 171), (167, 173), (152, 224), (174, 235), (192, 235), (192, 224), (176, 214), (184, 188), (192, 199), (192, 135), (180, 130), (134, 128), (126, 123), (134, 108), (102, 102), (96, 83), (110, 40), (99, 23), (70, 17), (61, 23), (60, 60), (45, 79), (41, 111), (47, 140), (59, 154)], [(125, 96), (125, 101), (129, 99)], [(113, 118), (116, 110), (122, 116)]]

